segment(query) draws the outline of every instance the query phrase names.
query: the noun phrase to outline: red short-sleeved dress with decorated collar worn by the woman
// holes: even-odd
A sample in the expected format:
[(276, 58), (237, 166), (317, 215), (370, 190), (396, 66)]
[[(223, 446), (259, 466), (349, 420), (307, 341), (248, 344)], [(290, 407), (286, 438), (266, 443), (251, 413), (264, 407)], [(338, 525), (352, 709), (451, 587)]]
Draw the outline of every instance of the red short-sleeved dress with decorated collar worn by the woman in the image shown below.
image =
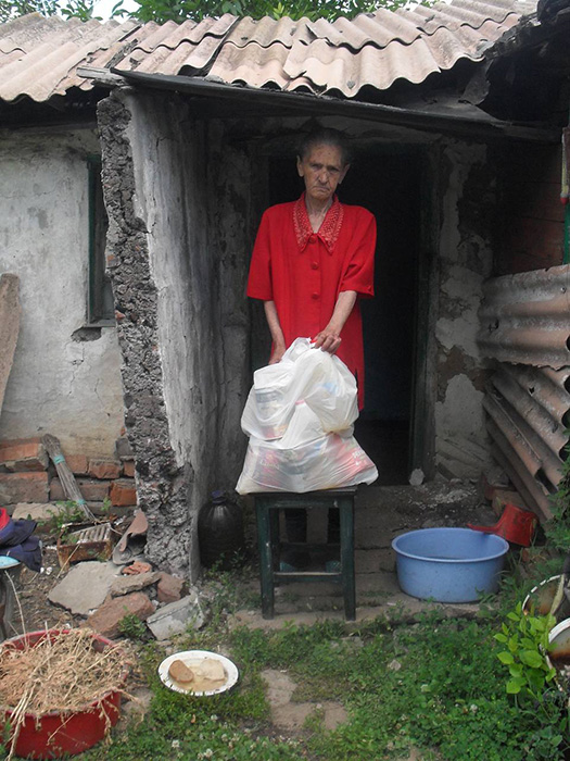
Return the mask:
[[(373, 296), (376, 220), (337, 197), (318, 233), (311, 227), (305, 197), (270, 207), (263, 215), (250, 266), (248, 296), (275, 301), (289, 347), (314, 338), (329, 323), (343, 290)], [(364, 347), (358, 299), (341, 333), (337, 355), (358, 382), (364, 404)]]

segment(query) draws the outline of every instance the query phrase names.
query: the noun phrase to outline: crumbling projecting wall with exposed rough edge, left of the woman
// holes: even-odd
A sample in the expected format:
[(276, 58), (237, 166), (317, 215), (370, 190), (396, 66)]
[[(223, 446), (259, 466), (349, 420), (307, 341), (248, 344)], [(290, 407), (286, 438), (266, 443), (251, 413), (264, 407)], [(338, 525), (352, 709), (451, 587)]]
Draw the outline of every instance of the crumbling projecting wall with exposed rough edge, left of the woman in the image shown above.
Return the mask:
[(233, 488), (245, 446), (248, 161), (214, 148), (206, 165), (206, 127), (176, 96), (115, 92), (99, 122), (125, 421), (150, 559), (194, 578), (198, 511), (212, 489)]

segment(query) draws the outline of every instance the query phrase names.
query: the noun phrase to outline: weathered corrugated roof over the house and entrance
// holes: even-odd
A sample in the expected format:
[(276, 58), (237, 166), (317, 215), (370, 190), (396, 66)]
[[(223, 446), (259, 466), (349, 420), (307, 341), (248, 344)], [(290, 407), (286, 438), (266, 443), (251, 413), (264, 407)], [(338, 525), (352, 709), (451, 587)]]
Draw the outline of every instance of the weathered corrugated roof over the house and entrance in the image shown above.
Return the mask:
[(481, 60), (485, 45), (535, 7), (534, 0), (453, 0), (332, 23), (225, 14), (180, 25), (101, 24), (31, 14), (0, 26), (0, 98), (46, 101), (72, 87), (90, 89), (78, 66), (354, 98), (365, 86), (418, 84), (460, 59)]

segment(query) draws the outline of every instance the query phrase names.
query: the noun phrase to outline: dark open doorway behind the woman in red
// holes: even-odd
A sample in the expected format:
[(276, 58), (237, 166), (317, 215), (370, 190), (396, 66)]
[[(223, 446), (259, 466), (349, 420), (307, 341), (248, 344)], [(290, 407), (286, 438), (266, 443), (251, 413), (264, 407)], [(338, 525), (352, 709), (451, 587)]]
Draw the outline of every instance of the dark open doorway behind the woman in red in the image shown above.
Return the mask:
[[(355, 436), (377, 465), (380, 485), (404, 484), (409, 475), (420, 172), (417, 153), (367, 149), (339, 191), (341, 201), (369, 209), (378, 225), (376, 298), (362, 301), (366, 392)], [(292, 159), (271, 159), (268, 205), (302, 190)]]

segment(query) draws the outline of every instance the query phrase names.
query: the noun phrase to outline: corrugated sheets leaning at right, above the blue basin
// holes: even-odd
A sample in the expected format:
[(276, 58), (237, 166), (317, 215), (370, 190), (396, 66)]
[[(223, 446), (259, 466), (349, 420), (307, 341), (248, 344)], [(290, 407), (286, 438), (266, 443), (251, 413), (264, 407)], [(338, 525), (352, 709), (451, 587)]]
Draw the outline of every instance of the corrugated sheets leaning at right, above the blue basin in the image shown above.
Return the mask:
[(570, 411), (570, 265), (485, 284), (478, 342), (501, 362), (484, 408), (493, 454), (546, 517), (560, 483)]

